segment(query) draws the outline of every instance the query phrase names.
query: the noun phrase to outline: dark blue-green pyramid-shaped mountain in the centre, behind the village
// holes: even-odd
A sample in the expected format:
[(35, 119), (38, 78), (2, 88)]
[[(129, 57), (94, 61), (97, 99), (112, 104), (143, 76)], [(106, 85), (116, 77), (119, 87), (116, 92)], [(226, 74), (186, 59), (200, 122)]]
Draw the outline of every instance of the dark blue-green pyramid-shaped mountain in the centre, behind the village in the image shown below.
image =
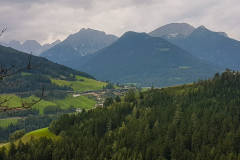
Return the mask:
[(81, 66), (97, 79), (163, 87), (206, 79), (222, 69), (146, 33), (127, 32)]

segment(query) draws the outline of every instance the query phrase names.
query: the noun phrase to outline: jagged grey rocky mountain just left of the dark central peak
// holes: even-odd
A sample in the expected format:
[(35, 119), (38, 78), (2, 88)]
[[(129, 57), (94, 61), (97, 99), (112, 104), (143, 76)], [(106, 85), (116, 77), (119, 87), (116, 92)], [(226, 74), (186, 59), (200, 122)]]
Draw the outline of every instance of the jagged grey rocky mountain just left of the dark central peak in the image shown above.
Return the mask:
[(93, 54), (115, 40), (117, 40), (117, 37), (114, 35), (106, 35), (104, 32), (83, 28), (78, 33), (70, 35), (60, 44), (43, 52), (41, 56), (69, 66), (71, 61)]

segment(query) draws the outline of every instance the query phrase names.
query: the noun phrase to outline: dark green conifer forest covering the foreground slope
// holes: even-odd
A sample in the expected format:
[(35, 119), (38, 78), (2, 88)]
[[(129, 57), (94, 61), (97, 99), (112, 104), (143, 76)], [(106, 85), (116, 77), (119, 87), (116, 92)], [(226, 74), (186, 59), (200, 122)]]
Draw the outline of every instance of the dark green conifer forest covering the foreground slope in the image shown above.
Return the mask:
[[(239, 159), (240, 73), (132, 91), (109, 107), (64, 114), (49, 130), (62, 141), (0, 148), (0, 159)], [(139, 97), (139, 98), (138, 98)]]

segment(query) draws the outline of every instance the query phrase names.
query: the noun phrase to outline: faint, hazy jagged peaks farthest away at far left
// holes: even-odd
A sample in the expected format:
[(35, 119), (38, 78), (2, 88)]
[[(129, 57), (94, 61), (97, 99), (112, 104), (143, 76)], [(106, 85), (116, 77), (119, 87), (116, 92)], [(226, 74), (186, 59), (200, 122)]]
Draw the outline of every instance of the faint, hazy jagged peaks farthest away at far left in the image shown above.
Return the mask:
[(37, 41), (35, 40), (26, 40), (23, 44), (21, 44), (19, 41), (12, 40), (9, 43), (0, 43), (1, 45), (5, 47), (11, 47), (13, 49), (19, 50), (21, 52), (25, 52), (28, 54), (33, 55), (40, 55), (42, 52), (46, 51), (47, 49), (55, 46), (56, 44), (60, 43), (60, 40), (57, 40), (51, 44), (44, 44), (41, 46)]

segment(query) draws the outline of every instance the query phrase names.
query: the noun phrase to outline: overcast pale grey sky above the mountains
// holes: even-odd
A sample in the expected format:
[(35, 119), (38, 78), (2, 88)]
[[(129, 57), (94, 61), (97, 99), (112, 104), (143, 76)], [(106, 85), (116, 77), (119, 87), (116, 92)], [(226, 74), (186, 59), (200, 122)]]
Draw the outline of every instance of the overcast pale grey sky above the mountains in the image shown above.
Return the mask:
[(240, 40), (239, 0), (0, 0), (1, 42), (64, 40), (81, 28), (121, 36), (173, 22), (204, 25)]

